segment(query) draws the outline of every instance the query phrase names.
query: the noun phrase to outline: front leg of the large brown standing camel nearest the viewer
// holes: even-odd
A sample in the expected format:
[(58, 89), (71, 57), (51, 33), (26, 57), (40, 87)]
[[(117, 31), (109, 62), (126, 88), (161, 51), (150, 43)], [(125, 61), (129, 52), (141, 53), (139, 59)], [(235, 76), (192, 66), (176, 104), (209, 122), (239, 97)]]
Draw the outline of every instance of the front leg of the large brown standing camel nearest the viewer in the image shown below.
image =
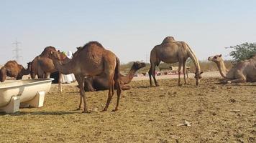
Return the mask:
[[(80, 89), (80, 95), (83, 97), (83, 113), (88, 113), (87, 104), (86, 104), (86, 92), (83, 89), (84, 77), (80, 75), (75, 75), (76, 81), (78, 82), (78, 87)], [(80, 106), (80, 105), (79, 105)]]

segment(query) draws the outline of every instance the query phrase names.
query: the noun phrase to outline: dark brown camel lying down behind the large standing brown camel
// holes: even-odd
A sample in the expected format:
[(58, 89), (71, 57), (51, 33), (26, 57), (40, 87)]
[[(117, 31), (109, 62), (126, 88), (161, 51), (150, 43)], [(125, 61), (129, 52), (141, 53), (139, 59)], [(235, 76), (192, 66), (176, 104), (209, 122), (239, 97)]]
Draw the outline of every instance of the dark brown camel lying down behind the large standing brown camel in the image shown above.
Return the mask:
[[(120, 74), (120, 82), (121, 82), (122, 90), (131, 89), (131, 87), (126, 84), (129, 84), (130, 82), (132, 82), (135, 72), (145, 66), (146, 66), (145, 63), (136, 61), (132, 64), (132, 68), (130, 69), (129, 73), (126, 76)], [(84, 83), (84, 90), (86, 92), (94, 92), (94, 91), (106, 90), (106, 89), (108, 89), (108, 79), (106, 79), (104, 75), (95, 76), (95, 77), (86, 77), (85, 83)]]

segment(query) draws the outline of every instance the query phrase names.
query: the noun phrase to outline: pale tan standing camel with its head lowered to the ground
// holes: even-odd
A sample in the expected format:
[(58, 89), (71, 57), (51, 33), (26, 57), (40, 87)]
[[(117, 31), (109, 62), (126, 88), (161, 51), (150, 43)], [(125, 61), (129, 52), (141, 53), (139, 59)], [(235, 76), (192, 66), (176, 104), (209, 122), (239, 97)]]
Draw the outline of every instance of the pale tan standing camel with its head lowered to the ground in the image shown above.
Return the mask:
[(185, 41), (175, 41), (173, 36), (167, 36), (160, 45), (156, 45), (150, 52), (150, 86), (152, 87), (151, 76), (155, 81), (155, 86), (159, 86), (155, 79), (155, 66), (159, 66), (160, 61), (165, 63), (173, 64), (178, 62), (178, 85), (180, 86), (180, 73), (181, 66), (183, 66), (183, 77), (184, 82), (186, 82), (186, 60), (191, 58), (193, 64), (196, 66), (195, 79), (196, 85), (198, 86), (201, 74), (203, 72), (200, 71), (200, 65), (198, 63), (198, 59), (196, 58), (196, 54), (192, 51), (192, 49), (186, 44)]

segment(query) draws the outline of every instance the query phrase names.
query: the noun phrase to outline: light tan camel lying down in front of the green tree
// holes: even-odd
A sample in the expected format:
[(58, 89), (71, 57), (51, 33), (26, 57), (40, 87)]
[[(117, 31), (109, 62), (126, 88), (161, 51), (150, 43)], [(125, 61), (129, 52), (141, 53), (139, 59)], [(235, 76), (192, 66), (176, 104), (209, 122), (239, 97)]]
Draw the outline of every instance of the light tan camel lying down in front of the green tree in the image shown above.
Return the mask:
[(230, 70), (226, 68), (221, 54), (209, 56), (208, 60), (217, 64), (219, 73), (226, 79), (226, 83), (256, 82), (256, 55), (237, 62)]

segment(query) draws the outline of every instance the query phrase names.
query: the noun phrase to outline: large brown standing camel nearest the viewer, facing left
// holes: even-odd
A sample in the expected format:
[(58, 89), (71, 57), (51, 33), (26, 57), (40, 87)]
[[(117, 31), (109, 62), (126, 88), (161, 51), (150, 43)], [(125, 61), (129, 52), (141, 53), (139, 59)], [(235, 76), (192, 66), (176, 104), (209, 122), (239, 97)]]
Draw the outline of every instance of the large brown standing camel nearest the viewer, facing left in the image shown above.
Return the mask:
[[(62, 74), (75, 74), (76, 81), (80, 89), (81, 97), (83, 97), (83, 112), (88, 113), (86, 104), (86, 94), (84, 91), (84, 79), (86, 76), (96, 76), (105, 74), (109, 79), (109, 94), (106, 101), (106, 106), (103, 111), (109, 107), (111, 98), (114, 95), (114, 83), (116, 84), (117, 102), (114, 111), (118, 110), (119, 99), (121, 96), (121, 85), (119, 77), (119, 59), (114, 53), (104, 49), (104, 47), (97, 41), (88, 42), (83, 48), (78, 49), (73, 58), (67, 64), (60, 62), (60, 53), (58, 51), (51, 51), (50, 59), (52, 59), (55, 67)], [(79, 105), (79, 108), (81, 105)]]

